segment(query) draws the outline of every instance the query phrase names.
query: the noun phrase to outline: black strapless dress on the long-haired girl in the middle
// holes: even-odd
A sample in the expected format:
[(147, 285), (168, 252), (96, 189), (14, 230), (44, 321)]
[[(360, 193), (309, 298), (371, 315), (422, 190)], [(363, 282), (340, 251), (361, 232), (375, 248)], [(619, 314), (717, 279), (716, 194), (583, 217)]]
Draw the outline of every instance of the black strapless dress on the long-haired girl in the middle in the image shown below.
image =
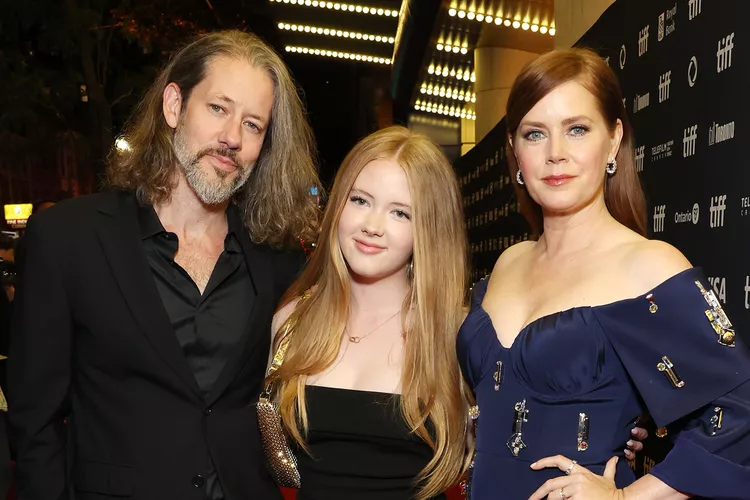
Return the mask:
[(433, 453), (409, 432), (398, 394), (307, 386), (306, 396), (312, 456), (297, 450), (298, 500), (413, 498)]

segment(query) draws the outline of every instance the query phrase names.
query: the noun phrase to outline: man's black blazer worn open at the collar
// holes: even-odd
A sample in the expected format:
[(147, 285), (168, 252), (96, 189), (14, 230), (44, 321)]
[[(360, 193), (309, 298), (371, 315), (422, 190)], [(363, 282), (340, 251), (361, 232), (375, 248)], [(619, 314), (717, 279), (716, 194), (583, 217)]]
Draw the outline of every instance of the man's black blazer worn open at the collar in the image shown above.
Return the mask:
[[(34, 215), (21, 242), (9, 402), (19, 500), (205, 500), (209, 452), (228, 500), (281, 498), (255, 402), (297, 255), (241, 244), (257, 296), (204, 398), (142, 250), (133, 194)], [(64, 424), (64, 419), (68, 424)]]

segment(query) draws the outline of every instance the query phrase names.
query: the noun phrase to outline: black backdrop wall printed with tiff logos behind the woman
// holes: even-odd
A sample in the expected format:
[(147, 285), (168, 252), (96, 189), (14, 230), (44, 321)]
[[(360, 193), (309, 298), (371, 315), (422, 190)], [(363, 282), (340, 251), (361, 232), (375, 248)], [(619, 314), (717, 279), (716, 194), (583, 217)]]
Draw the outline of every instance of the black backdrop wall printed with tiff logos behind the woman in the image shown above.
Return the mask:
[[(650, 237), (704, 269), (750, 343), (750, 1), (618, 0), (581, 38), (614, 70), (636, 138)], [(747, 135), (745, 135), (747, 134)], [(475, 278), (533, 237), (510, 182), (505, 120), (455, 162)], [(654, 432), (651, 433), (655, 435)], [(652, 437), (631, 464), (668, 451)]]

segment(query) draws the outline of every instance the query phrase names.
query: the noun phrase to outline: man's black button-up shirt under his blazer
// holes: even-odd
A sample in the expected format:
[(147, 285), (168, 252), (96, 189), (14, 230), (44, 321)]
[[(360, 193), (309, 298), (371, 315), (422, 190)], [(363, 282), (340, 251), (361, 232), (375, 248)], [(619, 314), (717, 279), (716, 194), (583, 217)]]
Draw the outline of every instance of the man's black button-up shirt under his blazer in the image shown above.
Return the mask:
[[(152, 206), (140, 208), (139, 222), (143, 249), (175, 336), (193, 369), (198, 387), (208, 397), (245, 333), (255, 300), (239, 241), (239, 235), (245, 230), (242, 220), (237, 208), (230, 205), (224, 251), (203, 294), (190, 275), (174, 261), (179, 248), (177, 235), (164, 229)], [(211, 457), (209, 464), (210, 470), (205, 471), (206, 498), (223, 499)], [(203, 486), (202, 479), (196, 488)]]

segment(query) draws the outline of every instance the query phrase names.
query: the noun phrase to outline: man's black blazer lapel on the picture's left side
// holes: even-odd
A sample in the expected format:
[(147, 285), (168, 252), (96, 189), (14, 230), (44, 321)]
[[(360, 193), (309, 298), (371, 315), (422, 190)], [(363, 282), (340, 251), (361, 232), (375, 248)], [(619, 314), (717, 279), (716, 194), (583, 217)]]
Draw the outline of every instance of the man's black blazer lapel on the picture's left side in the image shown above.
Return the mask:
[(128, 308), (164, 363), (198, 398), (203, 393), (174, 335), (141, 246), (135, 196), (100, 209), (99, 241)]

